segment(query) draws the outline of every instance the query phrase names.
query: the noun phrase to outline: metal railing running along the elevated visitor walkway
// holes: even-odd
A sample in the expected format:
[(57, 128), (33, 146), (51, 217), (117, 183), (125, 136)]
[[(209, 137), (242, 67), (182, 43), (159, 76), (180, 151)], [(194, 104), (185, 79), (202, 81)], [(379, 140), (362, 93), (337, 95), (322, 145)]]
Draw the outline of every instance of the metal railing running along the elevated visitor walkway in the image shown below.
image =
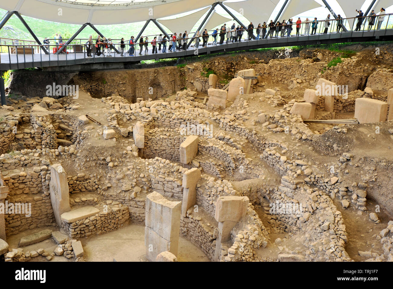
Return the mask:
[[(117, 48), (121, 51), (121, 44), (119, 44), (119, 39), (112, 39), (112, 44), (101, 44), (99, 43), (97, 48), (95, 47), (95, 39), (92, 39), (93, 44), (90, 45), (91, 52), (89, 51), (89, 47), (86, 44), (87, 39), (74, 39), (73, 42), (79, 42), (78, 44), (59, 44), (54, 45), (43, 44), (38, 45), (35, 41), (31, 40), (18, 40), (18, 41), (26, 41), (22, 42), (24, 44), (16, 44), (16, 39), (0, 39), (0, 69), (8, 70), (8, 69), (20, 69), (27, 67), (43, 67), (43, 66), (63, 66), (63, 65), (73, 65), (73, 64), (84, 64), (84, 63), (99, 63), (99, 62), (132, 62), (132, 61), (141, 61), (154, 59), (158, 60), (160, 58), (176, 58), (176, 57), (184, 57), (191, 56), (202, 53), (210, 53), (210, 52), (220, 52), (222, 51), (235, 51), (235, 50), (247, 50), (247, 49), (255, 49), (255, 48), (263, 48), (263, 47), (278, 47), (278, 46), (286, 46), (286, 45), (296, 45), (296, 43), (301, 44), (315, 44), (315, 41), (327, 40), (327, 39), (336, 39), (334, 41), (340, 42), (340, 39), (352, 39), (354, 37), (367, 39), (370, 41), (372, 38), (379, 38), (388, 35), (389, 37), (393, 37), (393, 29), (392, 24), (389, 21), (393, 22), (393, 13), (386, 14), (384, 22), (378, 26), (378, 16), (375, 17), (375, 21), (373, 25), (369, 26), (369, 16), (362, 17), (363, 21), (358, 24), (359, 18), (343, 18), (342, 20), (331, 19), (329, 21), (321, 20), (318, 21), (318, 26), (314, 31), (312, 30), (312, 22), (309, 24), (309, 30), (306, 31), (306, 22), (301, 22), (298, 33), (296, 30), (296, 22), (292, 24), (293, 30), (291, 33), (288, 33), (288, 25), (279, 25), (274, 26), (272, 28), (272, 33), (269, 33), (269, 28), (266, 29), (266, 34), (264, 35), (264, 39), (262, 30), (259, 33), (259, 39), (253, 39), (252, 33), (248, 34), (248, 29), (242, 29), (242, 37), (241, 41), (239, 41), (239, 36), (237, 38), (227, 37), (227, 34), (230, 33), (226, 31), (225, 33), (220, 33), (218, 31), (215, 41), (215, 38), (212, 36), (212, 31), (208, 31), (208, 35), (199, 35), (199, 37), (185, 37), (182, 39), (176, 39), (176, 48), (173, 51), (170, 51), (170, 45), (173, 44), (172, 40), (165, 39), (163, 41), (156, 42), (156, 53), (152, 53), (152, 44), (153, 38), (157, 35), (147, 35), (148, 42), (145, 42), (146, 36), (143, 36), (143, 42), (139, 42), (139, 39), (134, 39), (134, 51), (129, 53), (129, 40), (125, 40), (125, 48), (123, 56), (118, 53), (113, 52), (113, 48)], [(312, 19), (310, 19), (312, 20)], [(279, 20), (280, 21), (280, 20)], [(342, 22), (341, 22), (342, 21)], [(330, 25), (325, 25), (325, 23), (330, 23)], [(349, 23), (352, 24), (352, 30), (349, 29)], [(339, 24), (339, 25), (338, 25)], [(358, 25), (357, 25), (358, 24)], [(291, 26), (291, 25), (289, 25)], [(327, 27), (325, 27), (327, 26)], [(342, 27), (347, 28), (348, 31), (343, 31)], [(340, 28), (340, 29), (338, 29)], [(252, 29), (252, 32), (255, 33), (256, 27)], [(251, 30), (250, 30), (251, 32)], [(283, 33), (282, 33), (283, 32)], [(194, 32), (190, 32), (189, 34), (194, 35)], [(220, 45), (220, 36), (224, 36), (224, 41)], [(178, 37), (177, 35), (176, 37)], [(205, 37), (205, 39), (203, 39)], [(206, 38), (208, 40), (206, 40)], [(193, 40), (193, 47), (187, 49), (187, 43), (189, 40)], [(64, 39), (66, 40), (66, 39)], [(11, 41), (11, 42), (9, 42)], [(180, 41), (180, 43), (179, 43)], [(351, 41), (351, 40), (349, 40)], [(358, 39), (359, 41), (359, 39)], [(75, 43), (74, 42), (74, 43)], [(116, 43), (115, 43), (116, 42)], [(205, 42), (205, 46), (201, 46), (201, 44)], [(9, 43), (9, 44), (3, 44)], [(54, 43), (54, 42), (53, 42)], [(142, 48), (140, 47), (142, 44)], [(146, 45), (147, 44), (147, 45)], [(158, 51), (158, 46), (161, 44), (163, 50)], [(179, 45), (180, 44), (180, 45)], [(40, 46), (44, 46), (50, 52), (49, 55), (42, 53)], [(62, 53), (57, 53), (63, 46), (65, 49)], [(110, 52), (107, 49), (107, 46), (110, 46)], [(147, 49), (146, 49), (147, 46)], [(165, 49), (164, 49), (165, 46)], [(186, 48), (186, 49), (182, 49)], [(197, 50), (198, 49), (198, 50)], [(103, 50), (106, 50), (106, 53), (103, 53)], [(196, 53), (195, 53), (195, 50)], [(136, 55), (136, 52), (141, 53)], [(147, 53), (146, 53), (147, 51)], [(189, 52), (194, 51), (194, 52)], [(101, 53), (100, 53), (101, 52)], [(91, 53), (91, 57), (88, 55)], [(130, 56), (130, 54), (132, 54)]]

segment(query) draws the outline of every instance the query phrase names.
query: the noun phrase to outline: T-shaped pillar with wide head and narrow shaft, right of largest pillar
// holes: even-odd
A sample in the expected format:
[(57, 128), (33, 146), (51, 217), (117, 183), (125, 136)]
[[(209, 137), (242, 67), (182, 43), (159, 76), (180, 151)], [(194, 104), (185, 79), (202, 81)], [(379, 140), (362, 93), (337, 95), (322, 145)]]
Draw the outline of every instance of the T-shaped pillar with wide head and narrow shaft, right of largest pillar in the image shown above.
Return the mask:
[(248, 197), (225, 196), (217, 199), (214, 218), (219, 222), (219, 232), (214, 253), (215, 261), (219, 261), (221, 256), (222, 242), (230, 239), (231, 230), (246, 215), (249, 202)]

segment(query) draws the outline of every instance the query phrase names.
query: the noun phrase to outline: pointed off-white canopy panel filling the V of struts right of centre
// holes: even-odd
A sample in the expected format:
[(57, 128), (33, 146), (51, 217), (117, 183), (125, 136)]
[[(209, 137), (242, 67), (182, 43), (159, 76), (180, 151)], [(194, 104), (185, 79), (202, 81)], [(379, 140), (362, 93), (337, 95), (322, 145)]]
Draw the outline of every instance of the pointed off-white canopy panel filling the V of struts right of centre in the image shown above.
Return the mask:
[[(259, 23), (263, 24), (263, 22), (270, 22), (269, 17), (272, 15), (278, 2), (280, 2), (280, 0), (246, 0), (241, 2), (225, 2), (224, 4), (239, 12), (257, 27)], [(248, 25), (249, 23), (243, 24)]]

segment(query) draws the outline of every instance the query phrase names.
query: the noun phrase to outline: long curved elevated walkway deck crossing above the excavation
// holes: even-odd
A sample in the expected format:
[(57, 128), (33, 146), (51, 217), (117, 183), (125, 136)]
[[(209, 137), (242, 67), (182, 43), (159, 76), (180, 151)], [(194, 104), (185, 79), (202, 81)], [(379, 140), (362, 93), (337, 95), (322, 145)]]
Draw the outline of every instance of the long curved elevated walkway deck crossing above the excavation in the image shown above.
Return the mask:
[[(284, 46), (297, 46), (297, 45), (315, 45), (315, 44), (330, 44), (330, 43), (343, 43), (343, 42), (368, 42), (368, 41), (388, 41), (393, 40), (393, 29), (381, 29), (371, 31), (347, 31), (341, 33), (328, 33), (316, 35), (303, 35), (292, 37), (277, 37), (259, 40), (242, 40), (241, 42), (234, 42), (221, 45), (211, 45), (198, 49), (189, 47), (188, 50), (181, 50), (176, 52), (167, 53), (151, 53), (151, 46), (149, 46), (149, 54), (128, 56), (125, 54), (121, 57), (118, 53), (111, 53), (112, 57), (100, 56), (87, 57), (86, 50), (80, 53), (69, 54), (13, 54), (0, 53), (0, 70), (23, 69), (32, 67), (50, 67), (50, 66), (72, 66), (79, 64), (92, 64), (92, 63), (138, 63), (144, 60), (159, 60), (167, 58), (189, 57), (195, 55), (204, 55), (210, 53), (222, 53), (233, 51), (245, 51), (259, 48), (274, 48)], [(72, 45), (70, 45), (72, 46)], [(139, 48), (136, 43), (136, 48)], [(12, 48), (9, 48), (11, 50)], [(26, 48), (27, 50), (28, 48)], [(30, 48), (31, 49), (31, 48)], [(126, 46), (128, 49), (128, 45)], [(144, 50), (144, 48), (143, 48)], [(138, 54), (139, 49), (136, 49)], [(127, 55), (127, 56), (126, 56)]]

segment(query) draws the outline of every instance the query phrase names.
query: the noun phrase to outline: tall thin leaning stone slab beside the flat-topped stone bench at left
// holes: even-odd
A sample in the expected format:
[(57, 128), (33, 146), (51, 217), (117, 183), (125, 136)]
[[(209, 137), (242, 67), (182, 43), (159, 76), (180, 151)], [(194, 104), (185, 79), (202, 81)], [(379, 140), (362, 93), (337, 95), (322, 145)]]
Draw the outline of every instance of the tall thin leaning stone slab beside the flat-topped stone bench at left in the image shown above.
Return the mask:
[(50, 167), (49, 193), (56, 223), (61, 227), (61, 214), (71, 211), (67, 174), (61, 164)]

